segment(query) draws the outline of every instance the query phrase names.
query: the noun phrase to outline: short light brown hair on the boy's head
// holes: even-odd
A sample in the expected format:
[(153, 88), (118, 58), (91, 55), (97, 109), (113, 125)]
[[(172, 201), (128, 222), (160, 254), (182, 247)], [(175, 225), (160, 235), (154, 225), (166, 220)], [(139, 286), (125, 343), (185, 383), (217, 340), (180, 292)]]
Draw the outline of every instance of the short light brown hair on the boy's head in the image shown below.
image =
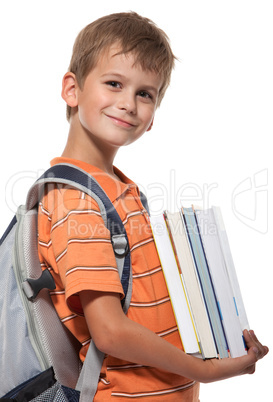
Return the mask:
[[(175, 56), (164, 31), (135, 12), (106, 15), (87, 25), (77, 36), (68, 71), (75, 74), (80, 88), (95, 67), (102, 51), (118, 43), (122, 54), (133, 52), (135, 64), (162, 77), (158, 105), (170, 83)], [(67, 119), (71, 107), (67, 106)]]

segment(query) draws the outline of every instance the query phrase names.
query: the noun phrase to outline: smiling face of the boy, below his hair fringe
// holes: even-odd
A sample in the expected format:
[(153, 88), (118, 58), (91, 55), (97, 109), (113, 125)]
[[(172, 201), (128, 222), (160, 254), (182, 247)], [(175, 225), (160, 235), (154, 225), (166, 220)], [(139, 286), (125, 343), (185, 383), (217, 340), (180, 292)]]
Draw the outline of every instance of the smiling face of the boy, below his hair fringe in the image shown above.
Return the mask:
[(161, 78), (133, 66), (133, 54), (105, 52), (76, 88), (78, 118), (91, 139), (112, 147), (128, 145), (152, 126)]

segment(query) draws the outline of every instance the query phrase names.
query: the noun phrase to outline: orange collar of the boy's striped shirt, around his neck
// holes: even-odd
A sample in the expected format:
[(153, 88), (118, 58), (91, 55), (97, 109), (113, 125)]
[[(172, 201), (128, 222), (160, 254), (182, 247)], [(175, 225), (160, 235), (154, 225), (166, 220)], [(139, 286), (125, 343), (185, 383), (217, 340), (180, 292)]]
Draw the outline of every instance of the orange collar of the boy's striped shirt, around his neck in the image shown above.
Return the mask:
[(111, 177), (108, 173), (105, 173), (103, 170), (99, 169), (96, 166), (90, 165), (89, 163), (77, 159), (58, 157), (54, 158), (50, 164), (51, 166), (54, 166), (57, 165), (58, 163), (69, 163), (91, 174), (97, 180), (97, 182), (100, 184), (103, 190), (106, 192), (111, 202), (114, 202), (129, 188), (135, 187), (138, 192), (136, 184), (132, 180), (130, 180), (127, 176), (125, 176), (125, 174), (122, 173), (115, 166), (114, 166), (114, 173), (120, 180)]

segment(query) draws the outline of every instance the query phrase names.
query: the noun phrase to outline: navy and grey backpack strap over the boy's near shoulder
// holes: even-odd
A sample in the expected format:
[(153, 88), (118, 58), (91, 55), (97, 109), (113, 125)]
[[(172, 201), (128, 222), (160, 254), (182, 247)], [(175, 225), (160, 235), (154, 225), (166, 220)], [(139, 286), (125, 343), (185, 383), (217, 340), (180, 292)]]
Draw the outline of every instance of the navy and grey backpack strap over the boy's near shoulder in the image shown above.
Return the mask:
[[(26, 210), (30, 210), (38, 204), (42, 198), (44, 187), (48, 183), (67, 184), (90, 195), (98, 203), (104, 223), (111, 233), (117, 267), (125, 295), (122, 300), (122, 307), (124, 313), (126, 313), (132, 295), (131, 256), (126, 230), (112, 202), (94, 177), (74, 165), (58, 164), (48, 169), (31, 187), (27, 196)], [(103, 359), (104, 354), (91, 341), (76, 386), (76, 389), (81, 391), (81, 402), (93, 400)]]

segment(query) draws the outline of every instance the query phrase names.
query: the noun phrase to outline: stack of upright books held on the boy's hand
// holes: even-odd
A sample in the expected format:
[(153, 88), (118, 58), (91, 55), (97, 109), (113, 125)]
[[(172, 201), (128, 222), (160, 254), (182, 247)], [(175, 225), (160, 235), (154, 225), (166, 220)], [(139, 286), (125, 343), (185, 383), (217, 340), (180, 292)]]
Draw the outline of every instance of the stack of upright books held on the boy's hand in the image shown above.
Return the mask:
[(203, 359), (246, 354), (246, 311), (219, 207), (151, 216), (181, 341)]

